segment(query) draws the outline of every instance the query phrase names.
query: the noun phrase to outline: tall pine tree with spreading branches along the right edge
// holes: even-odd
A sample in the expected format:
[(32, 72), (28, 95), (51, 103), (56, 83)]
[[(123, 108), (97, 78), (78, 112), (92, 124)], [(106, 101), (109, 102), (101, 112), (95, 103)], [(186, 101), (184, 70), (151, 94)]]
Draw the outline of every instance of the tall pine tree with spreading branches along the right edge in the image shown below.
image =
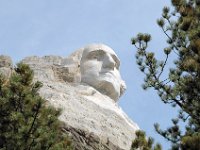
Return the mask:
[[(172, 142), (172, 149), (200, 149), (200, 0), (171, 0), (173, 10), (163, 8), (158, 25), (167, 37), (163, 61), (147, 50), (149, 34), (139, 33), (132, 39), (137, 49), (136, 59), (145, 74), (144, 89), (153, 88), (160, 99), (178, 107), (172, 126), (156, 131)], [(168, 70), (169, 57), (174, 66)], [(165, 72), (165, 73), (164, 73)], [(185, 123), (181, 131), (179, 123)]]

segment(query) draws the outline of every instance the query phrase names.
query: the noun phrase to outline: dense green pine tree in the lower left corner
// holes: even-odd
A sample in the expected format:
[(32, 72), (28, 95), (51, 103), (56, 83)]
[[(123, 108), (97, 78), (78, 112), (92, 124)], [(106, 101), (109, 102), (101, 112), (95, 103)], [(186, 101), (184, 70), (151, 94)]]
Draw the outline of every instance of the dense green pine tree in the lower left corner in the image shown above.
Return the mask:
[(60, 110), (46, 106), (38, 94), (42, 84), (32, 80), (33, 71), (22, 63), (9, 79), (0, 76), (0, 149), (72, 149), (61, 132)]

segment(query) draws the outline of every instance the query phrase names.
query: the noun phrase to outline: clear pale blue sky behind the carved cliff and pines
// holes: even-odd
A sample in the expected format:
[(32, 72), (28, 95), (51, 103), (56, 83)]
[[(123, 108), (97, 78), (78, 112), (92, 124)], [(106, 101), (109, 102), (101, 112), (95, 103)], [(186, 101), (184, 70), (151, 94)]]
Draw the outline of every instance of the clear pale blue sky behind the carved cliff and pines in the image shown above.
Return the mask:
[(175, 110), (162, 104), (154, 91), (143, 91), (143, 74), (135, 62), (130, 39), (148, 32), (150, 49), (162, 57), (165, 36), (156, 25), (170, 0), (0, 0), (0, 54), (15, 62), (30, 55), (68, 56), (90, 43), (112, 47), (121, 60), (127, 91), (119, 104), (148, 135), (160, 142), (153, 124), (170, 125)]

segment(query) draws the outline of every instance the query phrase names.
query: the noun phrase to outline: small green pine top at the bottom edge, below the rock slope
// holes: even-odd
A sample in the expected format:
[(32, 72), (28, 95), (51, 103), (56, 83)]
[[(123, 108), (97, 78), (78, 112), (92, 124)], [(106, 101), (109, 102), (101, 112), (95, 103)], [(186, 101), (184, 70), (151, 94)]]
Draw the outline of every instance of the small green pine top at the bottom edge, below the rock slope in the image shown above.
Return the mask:
[(136, 138), (132, 142), (131, 150), (162, 150), (160, 144), (153, 146), (154, 140), (152, 138), (146, 139), (146, 134), (143, 131), (136, 131)]

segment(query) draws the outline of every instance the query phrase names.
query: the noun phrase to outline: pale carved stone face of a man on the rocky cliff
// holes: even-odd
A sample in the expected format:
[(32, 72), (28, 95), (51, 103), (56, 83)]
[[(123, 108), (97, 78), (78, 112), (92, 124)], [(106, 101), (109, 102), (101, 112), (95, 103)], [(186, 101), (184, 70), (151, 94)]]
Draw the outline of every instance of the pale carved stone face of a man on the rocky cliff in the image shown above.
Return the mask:
[(80, 62), (81, 82), (117, 101), (125, 90), (119, 66), (120, 61), (110, 47), (103, 44), (89, 45), (84, 48)]

